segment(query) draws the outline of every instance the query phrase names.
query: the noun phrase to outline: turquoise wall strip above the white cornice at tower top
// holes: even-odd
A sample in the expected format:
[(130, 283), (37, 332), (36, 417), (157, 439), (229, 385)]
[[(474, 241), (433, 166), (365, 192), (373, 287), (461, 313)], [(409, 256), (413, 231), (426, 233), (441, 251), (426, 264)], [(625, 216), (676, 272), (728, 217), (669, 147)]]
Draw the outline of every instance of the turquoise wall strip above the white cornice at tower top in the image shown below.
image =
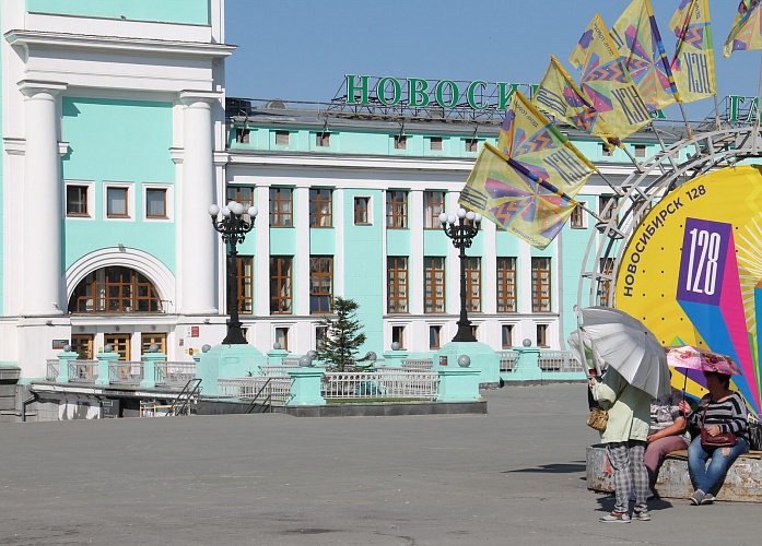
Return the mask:
[(208, 25), (210, 0), (26, 0), (26, 11)]

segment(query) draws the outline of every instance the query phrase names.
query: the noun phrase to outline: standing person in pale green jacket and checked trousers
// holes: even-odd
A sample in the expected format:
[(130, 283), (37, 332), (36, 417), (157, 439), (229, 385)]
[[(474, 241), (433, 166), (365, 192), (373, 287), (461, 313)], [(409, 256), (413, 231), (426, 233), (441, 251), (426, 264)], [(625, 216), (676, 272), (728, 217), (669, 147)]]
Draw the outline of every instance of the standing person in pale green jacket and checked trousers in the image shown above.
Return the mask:
[(602, 410), (609, 411), (606, 430), (600, 440), (606, 443), (613, 474), (617, 501), (613, 511), (602, 517), (603, 523), (629, 523), (630, 492), (635, 490), (632, 518), (649, 521), (648, 470), (643, 461), (650, 423), (650, 394), (632, 387), (609, 366), (601, 381), (590, 379), (593, 397)]

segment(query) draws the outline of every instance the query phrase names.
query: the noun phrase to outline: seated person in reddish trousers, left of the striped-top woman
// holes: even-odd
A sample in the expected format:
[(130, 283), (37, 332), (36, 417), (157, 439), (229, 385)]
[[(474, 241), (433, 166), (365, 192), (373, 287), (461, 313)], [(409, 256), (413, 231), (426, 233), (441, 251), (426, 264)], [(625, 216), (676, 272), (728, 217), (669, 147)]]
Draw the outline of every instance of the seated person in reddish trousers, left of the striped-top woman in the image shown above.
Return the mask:
[(691, 435), (685, 430), (685, 419), (680, 412), (682, 394), (672, 388), (672, 392), (650, 402), (650, 429), (646, 439), (645, 460), (648, 470), (648, 485), (654, 490), (659, 465), (670, 451), (688, 449)]

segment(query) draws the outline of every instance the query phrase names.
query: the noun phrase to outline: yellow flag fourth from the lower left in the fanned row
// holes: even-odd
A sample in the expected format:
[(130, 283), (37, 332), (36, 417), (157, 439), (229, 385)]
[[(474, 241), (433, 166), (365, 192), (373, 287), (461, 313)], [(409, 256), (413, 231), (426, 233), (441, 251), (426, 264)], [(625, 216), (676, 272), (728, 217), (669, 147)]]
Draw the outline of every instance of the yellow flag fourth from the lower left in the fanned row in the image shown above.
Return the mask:
[(588, 25), (570, 61), (577, 68), (582, 66), (583, 93), (619, 139), (650, 122), (643, 97), (599, 14)]

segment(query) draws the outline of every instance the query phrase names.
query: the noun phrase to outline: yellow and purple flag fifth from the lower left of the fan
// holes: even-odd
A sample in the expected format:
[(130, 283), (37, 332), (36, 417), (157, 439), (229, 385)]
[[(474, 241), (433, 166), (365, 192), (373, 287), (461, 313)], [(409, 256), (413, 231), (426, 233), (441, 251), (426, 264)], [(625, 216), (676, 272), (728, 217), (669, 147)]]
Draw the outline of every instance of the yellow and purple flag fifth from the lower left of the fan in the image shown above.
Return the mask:
[(649, 112), (679, 100), (649, 0), (633, 0), (611, 28), (611, 37)]

